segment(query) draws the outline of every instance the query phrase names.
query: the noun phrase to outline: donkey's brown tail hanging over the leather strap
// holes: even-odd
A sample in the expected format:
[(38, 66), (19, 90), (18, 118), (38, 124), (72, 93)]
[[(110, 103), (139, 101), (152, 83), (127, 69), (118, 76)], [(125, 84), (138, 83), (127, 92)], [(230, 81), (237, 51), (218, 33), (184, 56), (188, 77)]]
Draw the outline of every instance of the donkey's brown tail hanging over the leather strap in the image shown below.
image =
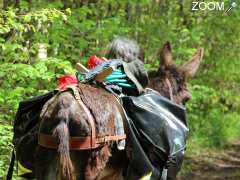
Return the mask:
[(69, 130), (66, 122), (61, 121), (53, 132), (58, 139), (58, 174), (63, 180), (75, 180), (74, 168), (69, 152)]

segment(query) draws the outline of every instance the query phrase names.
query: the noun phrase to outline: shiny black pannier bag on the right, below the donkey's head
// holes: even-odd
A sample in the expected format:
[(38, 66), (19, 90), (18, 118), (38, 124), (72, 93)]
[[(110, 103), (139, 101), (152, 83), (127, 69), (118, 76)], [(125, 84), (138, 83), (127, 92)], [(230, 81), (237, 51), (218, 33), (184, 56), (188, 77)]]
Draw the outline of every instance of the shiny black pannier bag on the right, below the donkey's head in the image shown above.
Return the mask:
[(158, 180), (163, 169), (174, 178), (182, 164), (188, 133), (185, 108), (150, 89), (122, 101), (129, 127), (125, 179), (149, 175)]

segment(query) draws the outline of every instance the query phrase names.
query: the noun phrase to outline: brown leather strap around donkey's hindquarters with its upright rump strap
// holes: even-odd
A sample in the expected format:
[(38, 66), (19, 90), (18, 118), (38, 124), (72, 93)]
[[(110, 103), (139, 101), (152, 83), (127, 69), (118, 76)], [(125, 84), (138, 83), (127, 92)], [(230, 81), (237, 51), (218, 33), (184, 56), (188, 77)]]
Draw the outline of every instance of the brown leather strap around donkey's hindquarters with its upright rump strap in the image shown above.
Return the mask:
[[(86, 150), (86, 149), (95, 149), (99, 146), (103, 146), (107, 142), (110, 141), (119, 141), (126, 139), (126, 135), (109, 135), (104, 137), (97, 137), (96, 136), (96, 127), (94, 118), (90, 112), (90, 110), (86, 107), (83, 103), (79, 89), (76, 86), (68, 86), (68, 89), (73, 91), (74, 97), (78, 101), (81, 108), (83, 108), (84, 112), (87, 114), (89, 124), (91, 126), (91, 135), (85, 137), (70, 137), (69, 138), (69, 149), (70, 150)], [(57, 139), (49, 134), (38, 133), (38, 144), (50, 148), (50, 149), (57, 149), (58, 148), (58, 141)]]

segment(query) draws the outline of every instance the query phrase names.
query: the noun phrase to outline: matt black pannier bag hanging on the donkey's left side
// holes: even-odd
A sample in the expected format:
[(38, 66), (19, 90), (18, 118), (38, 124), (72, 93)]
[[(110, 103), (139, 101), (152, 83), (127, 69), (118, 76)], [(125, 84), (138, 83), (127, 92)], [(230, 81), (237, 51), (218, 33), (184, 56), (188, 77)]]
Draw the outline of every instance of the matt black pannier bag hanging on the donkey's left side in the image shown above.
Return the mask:
[(34, 151), (37, 147), (37, 132), (39, 116), (43, 105), (52, 98), (57, 91), (33, 97), (19, 103), (18, 111), (13, 125), (14, 151), (7, 175), (10, 180), (16, 157), (18, 175), (25, 178), (34, 177)]

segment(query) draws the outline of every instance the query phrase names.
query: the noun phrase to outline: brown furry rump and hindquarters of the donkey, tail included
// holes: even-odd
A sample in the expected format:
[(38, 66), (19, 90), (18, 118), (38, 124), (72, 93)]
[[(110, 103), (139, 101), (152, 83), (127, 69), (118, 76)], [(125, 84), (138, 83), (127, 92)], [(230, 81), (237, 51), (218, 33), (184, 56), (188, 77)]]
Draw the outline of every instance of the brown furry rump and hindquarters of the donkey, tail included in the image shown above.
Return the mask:
[[(80, 84), (78, 92), (82, 105), (75, 92), (68, 90), (54, 96), (43, 107), (39, 134), (45, 135), (44, 142), (47, 145), (49, 142), (46, 141), (55, 139), (57, 147), (55, 149), (51, 143), (49, 148), (39, 146), (37, 179), (56, 179), (59, 176), (64, 180), (92, 180), (99, 178), (106, 167), (113, 141), (102, 142), (93, 149), (89, 147), (85, 150), (80, 150), (81, 148), (71, 150), (71, 147), (76, 147), (74, 143), (77, 140), (84, 143), (88, 141), (84, 140), (84, 137), (92, 136), (93, 127), (89, 122), (89, 116), (92, 116), (94, 121), (94, 131), (98, 139), (112, 137), (115, 140), (119, 137), (115, 136), (115, 122), (122, 120), (119, 119), (122, 118), (119, 106), (115, 97), (102, 88)], [(89, 112), (86, 112), (84, 106)], [(51, 138), (48, 138), (49, 136)], [(111, 163), (114, 161), (116, 160)], [(107, 177), (109, 172), (102, 173), (101, 179)]]

